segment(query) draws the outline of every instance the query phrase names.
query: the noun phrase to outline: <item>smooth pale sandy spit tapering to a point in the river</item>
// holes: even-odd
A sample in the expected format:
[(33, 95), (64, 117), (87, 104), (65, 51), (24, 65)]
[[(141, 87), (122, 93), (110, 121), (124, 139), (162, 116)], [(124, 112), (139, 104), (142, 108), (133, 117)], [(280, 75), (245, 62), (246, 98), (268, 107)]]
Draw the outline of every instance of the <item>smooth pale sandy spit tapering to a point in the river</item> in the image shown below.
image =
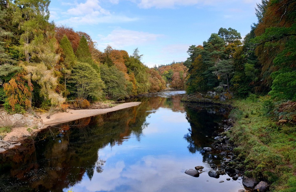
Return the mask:
[(77, 120), (85, 117), (100, 115), (100, 114), (113, 112), (113, 111), (117, 111), (124, 108), (134, 107), (139, 104), (141, 104), (141, 102), (123, 103), (107, 109), (70, 110), (69, 112), (55, 113), (52, 116), (50, 116), (50, 119), (46, 118), (47, 114), (42, 114), (41, 119), (43, 120), (44, 127), (47, 127), (50, 125), (56, 125), (56, 124), (65, 123), (68, 121), (73, 121), (73, 120)]

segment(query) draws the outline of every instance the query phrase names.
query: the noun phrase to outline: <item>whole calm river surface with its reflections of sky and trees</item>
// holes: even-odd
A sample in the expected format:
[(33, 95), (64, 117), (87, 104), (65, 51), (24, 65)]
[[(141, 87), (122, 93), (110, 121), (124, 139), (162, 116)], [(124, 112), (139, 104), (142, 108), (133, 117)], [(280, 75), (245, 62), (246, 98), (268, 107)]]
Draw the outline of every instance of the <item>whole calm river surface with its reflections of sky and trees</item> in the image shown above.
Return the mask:
[[(0, 191), (237, 192), (241, 180), (208, 175), (223, 157), (204, 152), (229, 109), (184, 104), (183, 91), (136, 107), (63, 123), (0, 159)], [(224, 157), (225, 158), (225, 157)], [(199, 177), (185, 170), (203, 166)], [(219, 183), (220, 181), (224, 181)]]

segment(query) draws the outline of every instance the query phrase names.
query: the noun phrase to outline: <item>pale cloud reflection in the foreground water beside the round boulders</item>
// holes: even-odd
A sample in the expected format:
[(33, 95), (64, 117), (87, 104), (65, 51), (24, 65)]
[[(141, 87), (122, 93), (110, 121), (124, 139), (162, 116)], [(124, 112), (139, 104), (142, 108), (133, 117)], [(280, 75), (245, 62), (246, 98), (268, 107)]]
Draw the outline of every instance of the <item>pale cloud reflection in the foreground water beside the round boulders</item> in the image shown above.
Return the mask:
[[(219, 179), (216, 179), (210, 178), (207, 172), (200, 174), (199, 178), (185, 174), (184, 171), (187, 168), (194, 168), (192, 162), (193, 160), (190, 158), (182, 159), (178, 157), (177, 159), (176, 157), (166, 155), (159, 157), (144, 156), (130, 166), (123, 161), (119, 161), (113, 167), (106, 165), (102, 173), (95, 173), (92, 181), (84, 179), (80, 184), (73, 187), (73, 191), (237, 192), (239, 189), (242, 189), (238, 182), (226, 181), (227, 176), (221, 176)], [(202, 165), (201, 162), (199, 163)], [(207, 168), (204, 170), (208, 171)], [(221, 184), (219, 183), (220, 180), (228, 183)]]

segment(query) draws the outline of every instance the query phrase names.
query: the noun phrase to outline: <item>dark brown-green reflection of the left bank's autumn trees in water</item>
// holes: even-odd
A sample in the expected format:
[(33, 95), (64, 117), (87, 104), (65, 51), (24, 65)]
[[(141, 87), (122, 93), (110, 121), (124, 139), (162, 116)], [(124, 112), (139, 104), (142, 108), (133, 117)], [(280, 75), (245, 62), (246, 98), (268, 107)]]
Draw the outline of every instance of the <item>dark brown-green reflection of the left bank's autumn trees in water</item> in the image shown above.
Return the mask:
[[(10, 163), (0, 167), (5, 173), (1, 174), (5, 177), (0, 180), (0, 188), (5, 186), (6, 191), (62, 191), (80, 182), (84, 174), (92, 179), (94, 171), (101, 173), (105, 164), (99, 157), (99, 149), (121, 145), (131, 134), (140, 140), (142, 130), (149, 124), (146, 117), (151, 112), (146, 111), (151, 108), (150, 104), (144, 102), (137, 107), (41, 131), (35, 138), (35, 145), (28, 143), (32, 146), (31, 151), (6, 158)], [(15, 157), (26, 160), (19, 161)]]

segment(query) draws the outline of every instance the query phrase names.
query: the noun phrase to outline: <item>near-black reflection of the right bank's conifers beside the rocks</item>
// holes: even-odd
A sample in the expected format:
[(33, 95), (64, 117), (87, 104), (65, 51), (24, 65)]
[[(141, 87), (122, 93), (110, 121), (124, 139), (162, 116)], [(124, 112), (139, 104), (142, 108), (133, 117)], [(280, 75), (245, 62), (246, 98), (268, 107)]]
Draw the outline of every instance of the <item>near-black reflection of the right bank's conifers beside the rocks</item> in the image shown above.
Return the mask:
[(213, 143), (212, 134), (217, 130), (218, 123), (227, 118), (229, 109), (221, 106), (202, 106), (184, 104), (186, 119), (190, 123), (189, 133), (184, 135), (188, 150), (191, 153), (201, 152), (204, 147)]

